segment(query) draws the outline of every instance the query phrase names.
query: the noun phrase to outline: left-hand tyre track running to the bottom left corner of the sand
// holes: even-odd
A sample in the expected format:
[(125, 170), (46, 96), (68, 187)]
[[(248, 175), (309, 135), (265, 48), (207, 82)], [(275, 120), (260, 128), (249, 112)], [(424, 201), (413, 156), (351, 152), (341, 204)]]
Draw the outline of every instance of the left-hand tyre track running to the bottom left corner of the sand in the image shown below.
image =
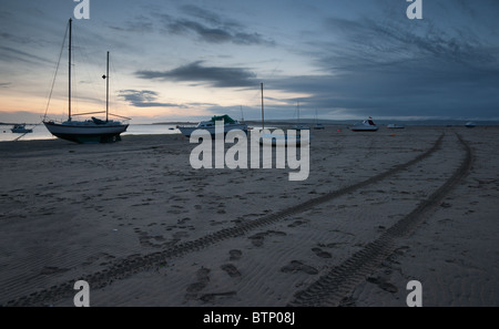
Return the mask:
[(72, 296), (74, 296), (75, 290), (73, 290), (73, 284), (77, 280), (80, 280), (80, 279), (85, 280), (91, 285), (92, 289), (101, 289), (101, 288), (112, 284), (112, 281), (114, 281), (114, 280), (121, 280), (121, 279), (132, 276), (133, 274), (145, 271), (149, 269), (154, 269), (160, 266), (164, 266), (166, 264), (167, 259), (181, 257), (185, 254), (207, 248), (208, 246), (211, 246), (215, 243), (225, 240), (225, 239), (244, 236), (246, 233), (248, 233), (253, 229), (271, 225), (273, 223), (279, 222), (292, 215), (304, 213), (319, 204), (329, 202), (329, 201), (337, 198), (339, 196), (343, 196), (345, 194), (355, 192), (358, 188), (375, 184), (381, 179), (385, 179), (388, 176), (391, 176), (398, 172), (401, 172), (401, 171), (406, 169), (407, 167), (427, 158), (428, 156), (430, 156), (432, 153), (435, 153), (440, 147), (444, 135), (445, 134), (442, 133), (434, 142), (432, 146), (429, 150), (419, 154), (411, 161), (406, 162), (404, 164), (396, 165), (384, 173), (371, 176), (359, 183), (346, 186), (346, 187), (337, 189), (337, 191), (329, 192), (325, 195), (308, 199), (302, 204), (288, 207), (286, 209), (276, 212), (274, 214), (269, 214), (269, 215), (263, 216), (261, 218), (257, 218), (257, 219), (254, 219), (251, 222), (246, 222), (244, 224), (240, 224), (234, 227), (221, 229), (213, 234), (200, 237), (195, 240), (179, 244), (179, 245), (173, 246), (165, 250), (161, 250), (161, 251), (156, 251), (156, 253), (152, 253), (152, 254), (143, 255), (143, 256), (140, 256), (140, 255), (129, 256), (120, 261), (116, 261), (114, 265), (110, 266), (109, 268), (96, 271), (94, 274), (82, 276), (80, 278), (75, 278), (73, 281), (54, 285), (50, 288), (34, 291), (31, 295), (22, 296), (18, 299), (10, 300), (4, 306), (8, 306), (8, 307), (11, 307), (11, 306), (12, 307), (13, 306), (16, 306), (16, 307), (50, 306), (58, 300), (61, 300), (64, 298), (70, 298)]

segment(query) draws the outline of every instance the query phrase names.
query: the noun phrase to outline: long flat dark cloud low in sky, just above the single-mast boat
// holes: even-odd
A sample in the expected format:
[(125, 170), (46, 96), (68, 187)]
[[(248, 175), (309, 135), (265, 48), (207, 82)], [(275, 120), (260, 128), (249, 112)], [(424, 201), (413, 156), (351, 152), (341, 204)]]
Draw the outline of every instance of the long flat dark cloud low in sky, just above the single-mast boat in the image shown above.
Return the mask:
[(187, 82), (204, 82), (217, 88), (257, 85), (256, 74), (247, 69), (203, 66), (196, 61), (171, 71), (138, 71), (141, 79), (159, 79)]

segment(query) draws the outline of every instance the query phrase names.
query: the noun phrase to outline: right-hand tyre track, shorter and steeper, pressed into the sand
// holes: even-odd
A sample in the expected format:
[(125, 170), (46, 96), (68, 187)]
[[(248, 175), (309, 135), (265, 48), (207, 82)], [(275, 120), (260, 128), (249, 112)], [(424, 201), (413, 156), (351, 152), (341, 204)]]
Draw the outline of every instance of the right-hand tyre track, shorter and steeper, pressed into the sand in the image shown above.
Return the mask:
[(432, 212), (471, 168), (473, 161), (471, 148), (459, 134), (456, 135), (466, 151), (466, 156), (452, 176), (410, 214), (387, 229), (378, 239), (366, 245), (364, 249), (355, 253), (305, 290), (296, 292), (295, 299), (288, 306), (339, 306), (344, 298), (347, 298), (367, 276), (379, 267), (383, 260), (395, 251), (397, 239), (410, 235), (424, 220), (425, 215)]

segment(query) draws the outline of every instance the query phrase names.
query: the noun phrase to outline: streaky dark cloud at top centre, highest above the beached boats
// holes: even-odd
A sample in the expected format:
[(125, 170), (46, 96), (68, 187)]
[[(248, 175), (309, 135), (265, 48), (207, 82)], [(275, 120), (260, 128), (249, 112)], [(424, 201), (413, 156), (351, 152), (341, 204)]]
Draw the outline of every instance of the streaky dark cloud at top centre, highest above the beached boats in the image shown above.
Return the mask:
[(160, 16), (166, 30), (172, 34), (193, 34), (198, 40), (210, 43), (275, 44), (273, 40), (257, 32), (248, 32), (241, 23), (222, 18), (215, 12), (196, 6), (183, 6), (181, 9), (187, 18)]

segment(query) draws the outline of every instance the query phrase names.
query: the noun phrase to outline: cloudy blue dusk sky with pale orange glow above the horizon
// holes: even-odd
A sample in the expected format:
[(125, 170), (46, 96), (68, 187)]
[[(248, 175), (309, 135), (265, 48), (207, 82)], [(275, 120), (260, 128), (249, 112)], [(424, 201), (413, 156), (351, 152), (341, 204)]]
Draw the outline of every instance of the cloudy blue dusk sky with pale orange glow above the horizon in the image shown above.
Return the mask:
[[(499, 121), (499, 1), (1, 0), (0, 122), (105, 109), (132, 123)], [(80, 11), (83, 13), (83, 11)], [(78, 14), (78, 13), (77, 13)], [(64, 43), (65, 40), (65, 43)]]

